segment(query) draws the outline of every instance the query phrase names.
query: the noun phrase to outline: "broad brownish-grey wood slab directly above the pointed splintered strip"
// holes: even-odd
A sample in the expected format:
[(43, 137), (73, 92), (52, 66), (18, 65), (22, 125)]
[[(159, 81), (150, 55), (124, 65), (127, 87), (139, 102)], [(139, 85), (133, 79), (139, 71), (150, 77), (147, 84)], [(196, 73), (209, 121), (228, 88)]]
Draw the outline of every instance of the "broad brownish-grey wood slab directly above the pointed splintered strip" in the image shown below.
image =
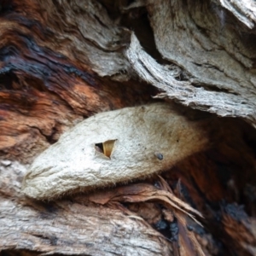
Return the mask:
[(220, 18), (223, 9), (207, 1), (148, 1), (147, 9), (160, 55), (189, 72), (191, 82), (255, 100), (256, 50), (245, 45), (249, 30), (226, 13)]

